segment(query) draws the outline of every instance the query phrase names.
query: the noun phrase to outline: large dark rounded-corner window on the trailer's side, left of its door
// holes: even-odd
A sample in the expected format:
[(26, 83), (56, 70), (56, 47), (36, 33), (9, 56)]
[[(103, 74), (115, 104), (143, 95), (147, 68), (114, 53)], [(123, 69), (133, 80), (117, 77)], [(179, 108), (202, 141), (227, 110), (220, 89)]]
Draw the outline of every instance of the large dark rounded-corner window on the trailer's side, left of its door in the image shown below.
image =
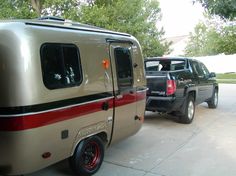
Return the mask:
[(73, 87), (81, 83), (79, 50), (75, 45), (46, 43), (40, 53), (43, 82), (48, 89)]

